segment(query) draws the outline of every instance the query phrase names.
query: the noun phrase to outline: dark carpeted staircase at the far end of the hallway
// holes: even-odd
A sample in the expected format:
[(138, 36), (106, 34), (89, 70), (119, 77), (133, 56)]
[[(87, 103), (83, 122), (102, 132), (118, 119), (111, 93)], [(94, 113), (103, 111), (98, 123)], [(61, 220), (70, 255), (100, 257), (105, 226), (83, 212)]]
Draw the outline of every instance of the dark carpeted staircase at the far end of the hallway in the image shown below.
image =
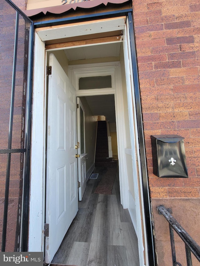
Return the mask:
[(108, 156), (108, 134), (106, 121), (98, 121), (97, 125), (97, 143), (95, 154), (95, 167), (110, 166), (113, 164), (113, 158)]

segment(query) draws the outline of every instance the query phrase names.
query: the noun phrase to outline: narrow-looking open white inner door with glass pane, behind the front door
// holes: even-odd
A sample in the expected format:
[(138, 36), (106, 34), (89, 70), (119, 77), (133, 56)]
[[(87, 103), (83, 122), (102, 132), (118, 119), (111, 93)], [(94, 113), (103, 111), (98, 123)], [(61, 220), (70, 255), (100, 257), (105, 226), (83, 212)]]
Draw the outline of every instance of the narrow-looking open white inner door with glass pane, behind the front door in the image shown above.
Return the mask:
[(85, 110), (79, 97), (77, 97), (77, 139), (78, 139), (78, 199), (82, 201), (84, 191), (86, 189), (86, 159), (87, 153), (85, 151)]

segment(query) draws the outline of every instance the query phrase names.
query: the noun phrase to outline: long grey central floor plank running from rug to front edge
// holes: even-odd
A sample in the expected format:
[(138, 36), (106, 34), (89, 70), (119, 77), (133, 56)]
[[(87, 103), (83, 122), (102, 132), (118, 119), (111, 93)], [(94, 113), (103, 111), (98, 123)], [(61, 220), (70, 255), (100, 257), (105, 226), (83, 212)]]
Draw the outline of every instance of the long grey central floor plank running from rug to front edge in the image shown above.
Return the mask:
[(87, 266), (107, 265), (107, 195), (99, 194)]

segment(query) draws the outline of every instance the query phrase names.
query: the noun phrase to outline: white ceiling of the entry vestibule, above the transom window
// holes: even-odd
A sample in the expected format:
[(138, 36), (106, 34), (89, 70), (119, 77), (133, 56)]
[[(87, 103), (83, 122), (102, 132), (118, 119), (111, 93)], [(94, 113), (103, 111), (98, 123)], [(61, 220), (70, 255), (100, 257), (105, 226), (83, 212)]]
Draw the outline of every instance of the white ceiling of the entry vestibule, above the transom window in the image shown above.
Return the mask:
[(92, 46), (83, 46), (66, 49), (65, 54), (69, 61), (81, 60), (81, 59), (91, 59), (91, 58), (102, 58), (102, 57), (116, 57), (119, 56), (121, 47), (121, 41), (101, 44), (101, 45), (92, 45)]

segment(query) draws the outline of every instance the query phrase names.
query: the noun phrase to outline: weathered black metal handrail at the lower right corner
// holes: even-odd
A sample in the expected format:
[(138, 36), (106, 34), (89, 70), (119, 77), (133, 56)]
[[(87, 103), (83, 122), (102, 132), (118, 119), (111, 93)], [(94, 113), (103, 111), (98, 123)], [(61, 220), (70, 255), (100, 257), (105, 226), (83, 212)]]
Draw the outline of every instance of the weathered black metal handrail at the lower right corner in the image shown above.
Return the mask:
[(192, 237), (186, 232), (186, 230), (177, 222), (176, 219), (171, 215), (172, 210), (165, 208), (165, 206), (157, 206), (158, 213), (162, 214), (169, 223), (169, 233), (171, 241), (171, 250), (172, 250), (172, 261), (173, 266), (182, 266), (179, 262), (176, 261), (176, 251), (174, 244), (174, 233), (173, 230), (179, 235), (179, 237), (185, 243), (186, 259), (187, 266), (192, 266), (192, 257), (191, 252), (200, 262), (200, 246), (192, 239)]

